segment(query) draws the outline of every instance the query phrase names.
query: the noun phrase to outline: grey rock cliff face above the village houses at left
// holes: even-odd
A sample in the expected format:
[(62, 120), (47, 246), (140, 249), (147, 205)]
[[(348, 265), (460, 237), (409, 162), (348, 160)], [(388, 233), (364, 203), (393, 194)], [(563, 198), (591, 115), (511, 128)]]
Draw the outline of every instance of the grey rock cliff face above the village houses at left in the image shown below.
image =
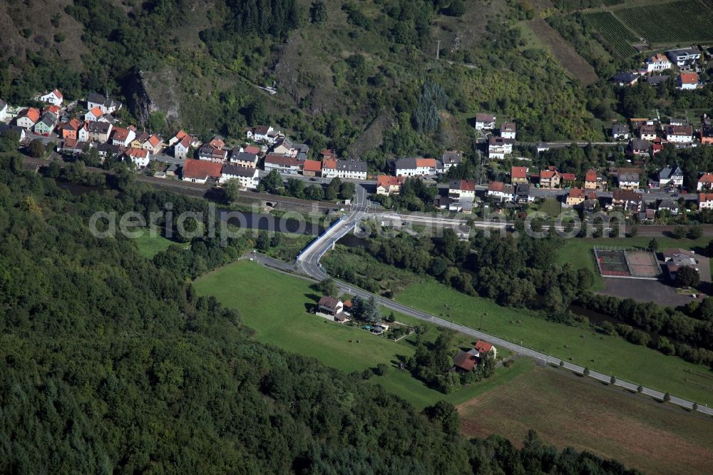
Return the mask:
[(136, 117), (146, 123), (151, 113), (161, 111), (170, 126), (180, 124), (175, 71), (165, 66), (157, 71), (136, 70), (132, 76), (126, 82), (128, 91), (125, 91), (125, 96), (130, 98), (129, 106)]

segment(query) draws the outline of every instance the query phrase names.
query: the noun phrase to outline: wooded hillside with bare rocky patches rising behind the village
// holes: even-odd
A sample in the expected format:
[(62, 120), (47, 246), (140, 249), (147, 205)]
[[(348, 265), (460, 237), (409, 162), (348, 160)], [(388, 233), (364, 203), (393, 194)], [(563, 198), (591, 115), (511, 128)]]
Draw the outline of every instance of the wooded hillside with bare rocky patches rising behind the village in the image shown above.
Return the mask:
[[(482, 111), (518, 121), (523, 140), (599, 133), (583, 88), (525, 48), (516, 23), (532, 12), (516, 0), (16, 0), (1, 9), (11, 34), (0, 39), (0, 97), (11, 104), (54, 87), (68, 98), (107, 91), (167, 133), (183, 125), (237, 138), (272, 122), (375, 168), (393, 154), (470, 150), (467, 118)], [(257, 88), (272, 84), (275, 96)], [(438, 101), (425, 93), (433, 88)]]

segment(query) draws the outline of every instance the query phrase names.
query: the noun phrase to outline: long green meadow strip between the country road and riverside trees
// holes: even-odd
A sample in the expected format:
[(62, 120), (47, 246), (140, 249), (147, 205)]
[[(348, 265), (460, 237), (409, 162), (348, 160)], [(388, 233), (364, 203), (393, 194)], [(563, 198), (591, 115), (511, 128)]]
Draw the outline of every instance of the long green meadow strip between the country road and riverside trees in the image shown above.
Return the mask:
[(482, 330), (497, 337), (635, 384), (713, 404), (713, 373), (678, 357), (589, 329), (548, 322), (525, 310), (464, 295), (434, 280), (412, 285), (396, 300), (473, 328), (480, 327), (482, 317)]

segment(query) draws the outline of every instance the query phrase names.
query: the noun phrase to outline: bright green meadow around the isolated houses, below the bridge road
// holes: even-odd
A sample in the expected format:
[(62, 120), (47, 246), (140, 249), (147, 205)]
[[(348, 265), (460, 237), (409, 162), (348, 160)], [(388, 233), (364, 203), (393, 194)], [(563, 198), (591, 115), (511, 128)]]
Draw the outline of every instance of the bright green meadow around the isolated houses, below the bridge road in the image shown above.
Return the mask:
[[(309, 286), (307, 280), (247, 261), (226, 265), (195, 281), (195, 288), (201, 295), (213, 295), (227, 307), (239, 310), (242, 321), (255, 330), (255, 337), (260, 342), (317, 358), (344, 372), (362, 371), (379, 363), (388, 364), (389, 372), (384, 377), (372, 377), (371, 381), (378, 382), (387, 391), (398, 394), (419, 409), (439, 399), (460, 404), (528, 369), (527, 364), (518, 360), (510, 368), (498, 368), (493, 377), (479, 384), (448, 395), (442, 394), (426, 387), (409, 372), (395, 367), (400, 357), (414, 354), (415, 335), (392, 342), (310, 314), (307, 309), (314, 305), (319, 295)], [(416, 323), (402, 315), (396, 315), (396, 319)], [(424, 322), (418, 323), (424, 325)], [(434, 340), (438, 330), (429, 324), (426, 327), (429, 330), (425, 338)], [(461, 347), (472, 344), (464, 336), (459, 336), (456, 342)]]

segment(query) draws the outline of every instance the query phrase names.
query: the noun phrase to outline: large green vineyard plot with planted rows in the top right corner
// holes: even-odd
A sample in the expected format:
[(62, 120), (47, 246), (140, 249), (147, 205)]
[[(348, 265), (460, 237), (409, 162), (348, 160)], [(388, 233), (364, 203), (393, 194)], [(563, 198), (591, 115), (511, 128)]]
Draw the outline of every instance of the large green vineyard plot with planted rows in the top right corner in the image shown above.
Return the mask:
[(713, 39), (713, 11), (698, 0), (634, 6), (615, 14), (650, 44)]

